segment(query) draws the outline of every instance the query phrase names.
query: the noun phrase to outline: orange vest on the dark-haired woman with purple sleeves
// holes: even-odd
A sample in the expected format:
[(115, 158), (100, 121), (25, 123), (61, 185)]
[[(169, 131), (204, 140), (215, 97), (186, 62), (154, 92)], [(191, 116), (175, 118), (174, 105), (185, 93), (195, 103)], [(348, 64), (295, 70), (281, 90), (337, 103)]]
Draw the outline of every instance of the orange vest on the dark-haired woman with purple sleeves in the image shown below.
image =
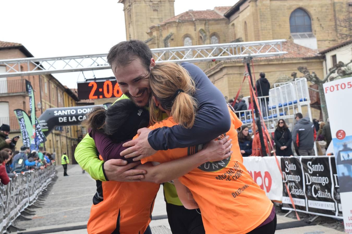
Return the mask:
[(88, 233), (143, 234), (151, 221), (159, 186), (150, 182), (103, 181), (103, 201), (90, 208)]

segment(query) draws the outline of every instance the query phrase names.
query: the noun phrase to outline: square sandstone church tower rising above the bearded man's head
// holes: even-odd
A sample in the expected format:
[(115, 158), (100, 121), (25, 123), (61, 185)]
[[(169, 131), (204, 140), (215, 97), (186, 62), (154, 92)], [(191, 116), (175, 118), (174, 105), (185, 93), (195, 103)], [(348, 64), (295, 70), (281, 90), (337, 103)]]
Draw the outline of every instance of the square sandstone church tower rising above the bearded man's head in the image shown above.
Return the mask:
[(124, 4), (126, 39), (145, 41), (149, 27), (175, 16), (175, 0), (119, 0)]

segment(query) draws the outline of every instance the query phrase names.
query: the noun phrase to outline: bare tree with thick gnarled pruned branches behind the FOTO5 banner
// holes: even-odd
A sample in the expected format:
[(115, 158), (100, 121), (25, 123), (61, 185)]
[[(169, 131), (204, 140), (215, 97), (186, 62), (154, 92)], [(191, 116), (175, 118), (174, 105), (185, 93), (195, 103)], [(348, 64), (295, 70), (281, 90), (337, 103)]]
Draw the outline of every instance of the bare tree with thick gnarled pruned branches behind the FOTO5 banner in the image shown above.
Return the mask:
[[(320, 79), (318, 75), (316, 75), (315, 72), (310, 72), (307, 67), (298, 67), (297, 70), (303, 74), (303, 77), (307, 79), (307, 81), (312, 82), (313, 84), (318, 85), (318, 92), (319, 92), (319, 98), (320, 98), (320, 105), (321, 105), (321, 112), (323, 114), (323, 119), (324, 121), (327, 120), (328, 118), (328, 111), (326, 108), (326, 101), (325, 101), (325, 95), (324, 95), (324, 88), (323, 88), (323, 83), (329, 81), (333, 81), (342, 77), (347, 77), (348, 75), (352, 74), (352, 69), (348, 67), (348, 65), (352, 63), (352, 60), (348, 63), (343, 63), (343, 62), (338, 62), (334, 67), (329, 69), (329, 73), (323, 78)], [(333, 74), (335, 74), (333, 76)], [(295, 79), (297, 78), (297, 73), (293, 72), (291, 76)]]

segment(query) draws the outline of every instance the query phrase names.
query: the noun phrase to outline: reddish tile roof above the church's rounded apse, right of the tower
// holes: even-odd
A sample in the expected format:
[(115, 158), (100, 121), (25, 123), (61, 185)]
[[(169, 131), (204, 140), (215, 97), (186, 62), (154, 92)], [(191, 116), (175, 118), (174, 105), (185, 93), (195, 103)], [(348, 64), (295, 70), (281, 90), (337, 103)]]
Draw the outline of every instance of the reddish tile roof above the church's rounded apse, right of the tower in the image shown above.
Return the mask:
[[(176, 15), (170, 19), (165, 20), (161, 24), (165, 24), (168, 22), (186, 22), (186, 21), (194, 21), (194, 20), (219, 20), (226, 19), (224, 17), (225, 7), (215, 7), (215, 10), (206, 10), (206, 11), (193, 11), (189, 10), (183, 12), (179, 15)], [(227, 7), (230, 9), (230, 7)]]

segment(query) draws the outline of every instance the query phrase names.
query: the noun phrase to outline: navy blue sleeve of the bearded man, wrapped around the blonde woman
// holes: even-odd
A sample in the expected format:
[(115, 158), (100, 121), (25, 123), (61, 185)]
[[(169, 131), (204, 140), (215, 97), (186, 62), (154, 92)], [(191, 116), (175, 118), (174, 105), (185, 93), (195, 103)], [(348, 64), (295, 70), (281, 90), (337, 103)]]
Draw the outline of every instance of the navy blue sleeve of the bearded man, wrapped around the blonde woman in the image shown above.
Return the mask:
[(230, 114), (224, 95), (196, 65), (183, 62), (181, 65), (195, 81), (194, 98), (198, 101), (194, 125), (187, 129), (180, 125), (157, 128), (148, 135), (148, 142), (155, 150), (167, 150), (199, 145), (228, 132), (231, 126)]

